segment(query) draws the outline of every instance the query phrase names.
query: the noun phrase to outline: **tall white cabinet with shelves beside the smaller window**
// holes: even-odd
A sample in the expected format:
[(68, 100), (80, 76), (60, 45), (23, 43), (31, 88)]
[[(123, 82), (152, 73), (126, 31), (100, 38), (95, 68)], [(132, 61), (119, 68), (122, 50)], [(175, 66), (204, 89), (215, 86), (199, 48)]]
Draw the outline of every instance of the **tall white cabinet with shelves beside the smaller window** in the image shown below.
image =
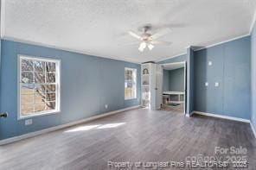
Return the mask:
[(142, 107), (156, 110), (156, 64), (141, 65)]

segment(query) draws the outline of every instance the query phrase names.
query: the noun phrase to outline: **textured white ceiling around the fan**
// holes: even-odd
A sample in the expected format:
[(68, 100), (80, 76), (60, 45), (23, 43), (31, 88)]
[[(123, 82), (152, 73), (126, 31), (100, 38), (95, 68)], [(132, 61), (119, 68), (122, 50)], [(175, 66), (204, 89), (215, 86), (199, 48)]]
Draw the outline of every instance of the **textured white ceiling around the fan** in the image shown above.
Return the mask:
[[(2, 0), (2, 37), (118, 60), (161, 60), (249, 33), (255, 0)], [(170, 27), (170, 47), (138, 52), (127, 30)]]

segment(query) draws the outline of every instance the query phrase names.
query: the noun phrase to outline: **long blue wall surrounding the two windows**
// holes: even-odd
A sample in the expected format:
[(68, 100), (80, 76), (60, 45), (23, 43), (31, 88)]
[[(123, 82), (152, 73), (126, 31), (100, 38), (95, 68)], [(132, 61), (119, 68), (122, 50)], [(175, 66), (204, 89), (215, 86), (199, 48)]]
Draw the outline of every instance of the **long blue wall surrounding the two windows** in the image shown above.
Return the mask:
[[(24, 126), (24, 120), (17, 120), (17, 54), (61, 60), (61, 113), (37, 116), (29, 126)], [(138, 64), (2, 41), (1, 65), (1, 111), (10, 115), (0, 120), (0, 139), (140, 104)], [(124, 99), (126, 66), (138, 69), (137, 99)]]

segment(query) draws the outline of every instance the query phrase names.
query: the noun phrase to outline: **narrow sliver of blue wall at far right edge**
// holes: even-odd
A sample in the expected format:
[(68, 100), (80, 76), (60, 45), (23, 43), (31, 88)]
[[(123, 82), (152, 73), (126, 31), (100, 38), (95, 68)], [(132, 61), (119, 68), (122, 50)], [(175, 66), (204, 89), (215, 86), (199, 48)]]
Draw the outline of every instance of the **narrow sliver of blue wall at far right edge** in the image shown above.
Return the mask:
[(251, 50), (252, 50), (252, 116), (251, 122), (254, 129), (256, 129), (256, 25), (254, 25), (253, 33), (251, 35)]

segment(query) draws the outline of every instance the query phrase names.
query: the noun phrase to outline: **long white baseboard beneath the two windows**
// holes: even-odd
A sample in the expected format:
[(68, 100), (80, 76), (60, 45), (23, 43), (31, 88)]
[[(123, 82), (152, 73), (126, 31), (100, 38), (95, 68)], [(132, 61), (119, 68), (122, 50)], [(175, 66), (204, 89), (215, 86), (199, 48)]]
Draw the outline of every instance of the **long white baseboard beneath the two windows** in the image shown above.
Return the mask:
[(20, 140), (23, 140), (23, 139), (27, 139), (29, 137), (34, 137), (35, 135), (42, 135), (42, 134), (52, 132), (52, 131), (55, 131), (55, 130), (58, 130), (58, 129), (64, 129), (64, 128), (67, 128), (67, 127), (70, 127), (70, 126), (74, 126), (76, 124), (93, 121), (95, 119), (99, 119), (99, 118), (104, 117), (104, 116), (110, 116), (110, 115), (113, 115), (113, 114), (121, 113), (121, 112), (124, 112), (126, 110), (134, 110), (134, 109), (137, 109), (139, 107), (140, 107), (140, 105), (136, 105), (136, 106), (128, 107), (128, 108), (121, 109), (121, 110), (114, 110), (114, 111), (103, 113), (103, 114), (100, 114), (100, 115), (97, 115), (97, 116), (91, 116), (91, 117), (88, 117), (88, 118), (85, 118), (85, 119), (82, 119), (82, 120), (79, 120), (79, 121), (75, 121), (75, 122), (72, 122), (72, 123), (61, 124), (61, 125), (54, 126), (52, 128), (42, 129), (42, 130), (38, 130), (38, 131), (35, 131), (35, 132), (30, 132), (28, 134), (10, 137), (8, 139), (0, 140), (0, 145), (5, 145), (5, 144), (11, 143), (11, 142), (17, 142), (17, 141), (20, 141)]

